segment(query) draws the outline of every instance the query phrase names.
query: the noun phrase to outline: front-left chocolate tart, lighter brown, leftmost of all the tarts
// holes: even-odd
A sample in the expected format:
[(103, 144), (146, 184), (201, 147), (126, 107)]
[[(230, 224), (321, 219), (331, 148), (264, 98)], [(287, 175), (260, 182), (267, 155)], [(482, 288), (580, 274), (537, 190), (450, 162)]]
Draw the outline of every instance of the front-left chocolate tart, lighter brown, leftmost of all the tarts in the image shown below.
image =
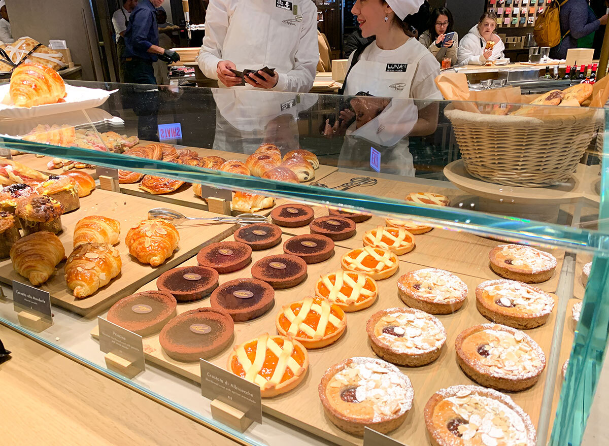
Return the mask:
[(136, 292), (112, 305), (106, 319), (136, 335), (150, 336), (175, 316), (176, 306), (175, 297), (167, 292)]

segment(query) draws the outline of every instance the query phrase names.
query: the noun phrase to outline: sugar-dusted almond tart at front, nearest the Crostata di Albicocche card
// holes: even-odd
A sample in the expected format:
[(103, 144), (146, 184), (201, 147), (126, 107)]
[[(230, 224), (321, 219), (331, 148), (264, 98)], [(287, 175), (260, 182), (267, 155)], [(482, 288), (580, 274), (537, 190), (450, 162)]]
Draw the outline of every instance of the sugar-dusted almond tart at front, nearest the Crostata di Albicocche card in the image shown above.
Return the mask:
[(365, 427), (380, 433), (400, 427), (414, 399), (410, 379), (398, 367), (362, 356), (329, 367), (318, 392), (328, 419), (360, 437)]

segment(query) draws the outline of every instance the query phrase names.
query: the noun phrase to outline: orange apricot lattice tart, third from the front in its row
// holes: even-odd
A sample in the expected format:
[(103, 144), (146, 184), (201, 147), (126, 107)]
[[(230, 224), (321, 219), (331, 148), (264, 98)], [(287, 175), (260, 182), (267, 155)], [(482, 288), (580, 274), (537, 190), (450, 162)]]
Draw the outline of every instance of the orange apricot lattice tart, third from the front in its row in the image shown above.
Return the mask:
[(336, 303), (344, 311), (359, 311), (375, 303), (378, 286), (362, 272), (336, 271), (319, 278), (315, 296)]

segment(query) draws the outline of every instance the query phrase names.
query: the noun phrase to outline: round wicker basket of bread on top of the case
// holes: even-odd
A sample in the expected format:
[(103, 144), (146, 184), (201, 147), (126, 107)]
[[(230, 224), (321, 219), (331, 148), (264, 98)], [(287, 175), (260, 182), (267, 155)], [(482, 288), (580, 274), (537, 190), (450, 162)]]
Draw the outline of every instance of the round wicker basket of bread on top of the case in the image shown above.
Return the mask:
[(598, 125), (595, 108), (574, 114), (567, 110), (535, 118), (484, 115), (448, 105), (444, 114), (470, 175), (502, 185), (541, 187), (571, 178)]

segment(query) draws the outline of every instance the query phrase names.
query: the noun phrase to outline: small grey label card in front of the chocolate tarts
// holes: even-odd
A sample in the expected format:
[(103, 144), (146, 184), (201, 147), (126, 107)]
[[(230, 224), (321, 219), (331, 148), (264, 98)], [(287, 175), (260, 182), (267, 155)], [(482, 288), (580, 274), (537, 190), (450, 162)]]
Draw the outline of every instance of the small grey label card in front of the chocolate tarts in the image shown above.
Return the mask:
[(99, 326), (99, 350), (104, 353), (114, 353), (116, 356), (131, 361), (133, 366), (139, 370), (146, 370), (141, 336), (100, 316), (97, 317), (97, 325)]

